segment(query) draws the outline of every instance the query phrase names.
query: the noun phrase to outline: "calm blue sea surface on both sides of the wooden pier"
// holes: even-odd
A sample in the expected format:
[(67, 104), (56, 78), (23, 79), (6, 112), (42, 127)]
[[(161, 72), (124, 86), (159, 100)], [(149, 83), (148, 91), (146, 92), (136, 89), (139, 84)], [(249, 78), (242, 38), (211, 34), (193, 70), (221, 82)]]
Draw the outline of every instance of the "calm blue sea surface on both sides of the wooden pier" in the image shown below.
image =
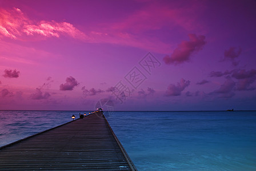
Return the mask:
[[(79, 112), (86, 111), (0, 111), (0, 146), (67, 123)], [(256, 111), (105, 116), (138, 170), (256, 170)]]

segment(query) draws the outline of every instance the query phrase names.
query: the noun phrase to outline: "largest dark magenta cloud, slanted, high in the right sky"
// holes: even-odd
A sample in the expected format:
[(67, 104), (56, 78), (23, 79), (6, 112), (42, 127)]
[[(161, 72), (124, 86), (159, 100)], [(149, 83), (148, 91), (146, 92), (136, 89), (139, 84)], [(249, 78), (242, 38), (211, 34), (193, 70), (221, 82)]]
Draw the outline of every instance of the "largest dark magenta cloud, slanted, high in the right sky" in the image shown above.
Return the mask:
[(202, 50), (202, 47), (206, 44), (205, 36), (189, 34), (189, 41), (182, 41), (177, 48), (173, 51), (171, 56), (167, 55), (163, 58), (166, 64), (181, 64), (187, 62), (190, 59), (191, 54)]

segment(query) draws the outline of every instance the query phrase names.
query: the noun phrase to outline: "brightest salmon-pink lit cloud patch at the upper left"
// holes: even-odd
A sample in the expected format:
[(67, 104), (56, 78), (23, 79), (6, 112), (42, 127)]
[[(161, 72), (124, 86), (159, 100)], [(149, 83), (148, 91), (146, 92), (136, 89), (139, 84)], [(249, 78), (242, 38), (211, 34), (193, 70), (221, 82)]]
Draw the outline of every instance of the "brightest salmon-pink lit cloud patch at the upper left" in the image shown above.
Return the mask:
[(73, 38), (85, 38), (85, 34), (67, 22), (40, 21), (35, 23), (27, 18), (20, 9), (0, 9), (0, 35), (17, 39), (22, 35), (55, 36), (68, 35)]

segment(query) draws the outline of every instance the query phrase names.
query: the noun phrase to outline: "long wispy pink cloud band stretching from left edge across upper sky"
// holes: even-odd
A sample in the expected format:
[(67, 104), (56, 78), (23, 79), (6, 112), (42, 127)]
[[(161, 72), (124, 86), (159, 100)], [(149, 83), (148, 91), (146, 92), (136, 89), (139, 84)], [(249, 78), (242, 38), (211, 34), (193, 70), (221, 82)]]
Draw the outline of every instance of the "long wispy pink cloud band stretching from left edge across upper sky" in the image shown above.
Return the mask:
[[(195, 30), (197, 18), (194, 10), (202, 10), (200, 5), (181, 7), (178, 3), (165, 5), (155, 1), (145, 3), (142, 8), (134, 10), (126, 18), (119, 18), (114, 23), (98, 23), (79, 30), (69, 22), (34, 21), (22, 12), (22, 9), (0, 9), (0, 38), (7, 36), (12, 39), (37, 40), (61, 36), (70, 36), (86, 43), (110, 43), (121, 46), (131, 46), (149, 51), (167, 54), (173, 43), (164, 42), (147, 32), (159, 31), (162, 28), (180, 27), (185, 30)], [(184, 15), (186, 13), (187, 15)], [(189, 17), (187, 17), (189, 16)], [(99, 27), (100, 26), (100, 27)], [(136, 26), (136, 27), (134, 27)]]

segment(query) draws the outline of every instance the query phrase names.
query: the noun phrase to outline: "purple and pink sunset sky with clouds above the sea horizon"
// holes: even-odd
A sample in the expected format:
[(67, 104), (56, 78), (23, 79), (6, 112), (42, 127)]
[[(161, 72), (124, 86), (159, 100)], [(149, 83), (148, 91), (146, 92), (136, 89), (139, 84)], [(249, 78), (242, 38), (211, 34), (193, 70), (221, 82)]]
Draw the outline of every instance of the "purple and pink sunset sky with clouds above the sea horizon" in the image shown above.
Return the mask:
[(256, 1), (0, 0), (0, 109), (255, 110)]

